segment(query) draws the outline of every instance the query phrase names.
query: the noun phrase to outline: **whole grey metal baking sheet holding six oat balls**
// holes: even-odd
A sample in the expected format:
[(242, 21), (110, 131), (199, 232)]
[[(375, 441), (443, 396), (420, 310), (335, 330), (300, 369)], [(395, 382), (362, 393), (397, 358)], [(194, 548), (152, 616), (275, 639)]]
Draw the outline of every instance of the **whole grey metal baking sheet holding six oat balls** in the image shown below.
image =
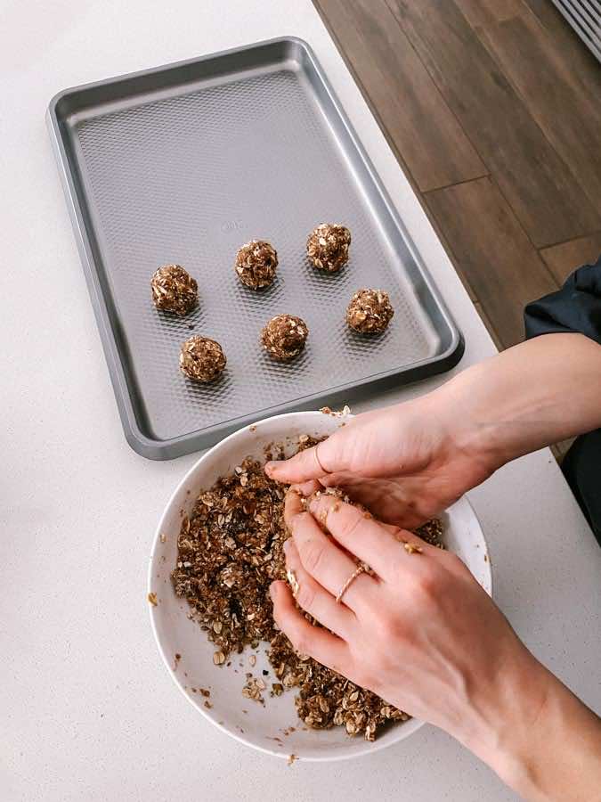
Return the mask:
[[(311, 48), (287, 37), (68, 89), (48, 110), (53, 144), (126, 438), (151, 459), (210, 446), (269, 414), (353, 401), (459, 361), (463, 341)], [(305, 256), (321, 222), (353, 235), (349, 264)], [(271, 241), (271, 288), (236, 277), (236, 251)], [(199, 307), (158, 313), (150, 275), (178, 263)], [(345, 324), (353, 291), (390, 293), (379, 337)], [(300, 315), (302, 356), (258, 342), (273, 315)], [(227, 355), (219, 381), (178, 368), (191, 334)]]

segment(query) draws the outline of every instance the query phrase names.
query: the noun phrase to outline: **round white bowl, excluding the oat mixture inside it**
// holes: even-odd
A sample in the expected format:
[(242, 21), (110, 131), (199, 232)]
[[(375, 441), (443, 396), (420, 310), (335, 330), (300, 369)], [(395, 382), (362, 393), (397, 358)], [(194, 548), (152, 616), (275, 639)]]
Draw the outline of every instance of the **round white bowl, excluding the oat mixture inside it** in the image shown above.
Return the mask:
[[(264, 707), (245, 699), (241, 690), (247, 671), (260, 676), (262, 669), (270, 669), (270, 675), (265, 677), (268, 688), (275, 681), (265, 655), (267, 644), (262, 643), (258, 650), (248, 648), (242, 655), (231, 656), (229, 668), (213, 665), (214, 645), (207, 641), (199, 625), (187, 618), (188, 604), (175, 596), (171, 583), (177, 535), (182, 516), (190, 513), (199, 490), (211, 487), (244, 457), (263, 459), (264, 445), (272, 442), (287, 443), (291, 453), (299, 435), (328, 435), (344, 421), (343, 417), (319, 412), (290, 413), (259, 421), (252, 429), (245, 427), (225, 438), (200, 457), (175, 489), (158, 524), (150, 555), (148, 590), (158, 598), (156, 607), (149, 605), (150, 620), (158, 650), (175, 684), (215, 726), (248, 746), (279, 757), (290, 754), (306, 760), (358, 757), (402, 741), (416, 732), (422, 722), (411, 719), (391, 725), (370, 743), (361, 737), (350, 738), (342, 727), (303, 731), (296, 716), (294, 690), (274, 698), (266, 694)], [(443, 517), (447, 547), (459, 554), (487, 593), (491, 593), (491, 563), (485, 557), (488, 550), (470, 504), (465, 498), (460, 499)], [(252, 653), (256, 654), (255, 667), (248, 663)], [(181, 655), (181, 659), (175, 661), (175, 654)], [(205, 707), (199, 688), (210, 690), (212, 708)], [(290, 726), (296, 728), (294, 732), (289, 732)]]

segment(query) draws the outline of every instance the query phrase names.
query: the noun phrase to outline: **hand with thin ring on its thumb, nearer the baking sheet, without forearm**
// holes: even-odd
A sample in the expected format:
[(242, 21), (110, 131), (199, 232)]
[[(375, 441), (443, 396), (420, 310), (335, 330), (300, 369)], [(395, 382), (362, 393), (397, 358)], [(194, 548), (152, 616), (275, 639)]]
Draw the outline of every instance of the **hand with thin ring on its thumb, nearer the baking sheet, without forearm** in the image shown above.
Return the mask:
[(268, 476), (287, 484), (317, 480), (342, 487), (378, 518), (412, 528), (487, 479), (495, 465), (477, 453), (467, 421), (440, 390), (347, 421), (318, 446), (268, 462)]

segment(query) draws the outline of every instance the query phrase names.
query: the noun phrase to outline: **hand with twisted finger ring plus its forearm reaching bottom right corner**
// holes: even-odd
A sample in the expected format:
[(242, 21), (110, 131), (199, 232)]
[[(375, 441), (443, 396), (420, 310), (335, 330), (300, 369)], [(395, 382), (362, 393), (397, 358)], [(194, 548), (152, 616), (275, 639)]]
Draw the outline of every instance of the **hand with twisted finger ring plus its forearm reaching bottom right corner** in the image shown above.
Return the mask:
[[(336, 496), (303, 511), (288, 491), (285, 515), (298, 588), (295, 600), (273, 583), (273, 612), (297, 651), (450, 732), (527, 798), (598, 798), (597, 717), (532, 657), (458, 557)], [(360, 574), (337, 603), (351, 554), (374, 576)]]

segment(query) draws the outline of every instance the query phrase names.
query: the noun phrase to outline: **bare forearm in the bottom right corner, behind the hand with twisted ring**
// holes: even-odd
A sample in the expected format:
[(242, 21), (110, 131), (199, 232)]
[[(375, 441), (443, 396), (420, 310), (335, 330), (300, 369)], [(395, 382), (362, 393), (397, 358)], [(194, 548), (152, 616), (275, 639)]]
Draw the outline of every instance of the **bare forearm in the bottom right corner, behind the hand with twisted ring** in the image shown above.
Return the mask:
[(516, 683), (508, 677), (494, 723), (466, 745), (529, 802), (598, 802), (601, 721), (546, 668), (533, 664), (530, 676)]

